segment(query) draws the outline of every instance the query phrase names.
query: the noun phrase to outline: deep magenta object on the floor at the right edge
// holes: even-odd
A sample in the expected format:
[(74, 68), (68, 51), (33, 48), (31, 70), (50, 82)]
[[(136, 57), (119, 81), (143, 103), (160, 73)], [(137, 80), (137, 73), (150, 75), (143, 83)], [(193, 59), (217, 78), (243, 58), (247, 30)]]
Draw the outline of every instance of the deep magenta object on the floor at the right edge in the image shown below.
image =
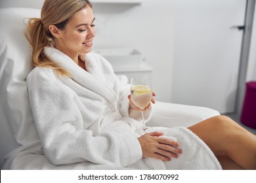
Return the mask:
[(256, 81), (246, 83), (241, 122), (256, 129)]

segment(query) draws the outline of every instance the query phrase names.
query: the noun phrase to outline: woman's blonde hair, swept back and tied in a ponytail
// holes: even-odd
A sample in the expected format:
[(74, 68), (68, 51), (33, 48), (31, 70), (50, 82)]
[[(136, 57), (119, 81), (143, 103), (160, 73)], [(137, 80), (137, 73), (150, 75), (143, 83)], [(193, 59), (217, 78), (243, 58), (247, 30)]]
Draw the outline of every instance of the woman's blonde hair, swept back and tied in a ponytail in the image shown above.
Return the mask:
[(54, 63), (43, 54), (43, 48), (53, 44), (53, 35), (49, 31), (49, 25), (55, 25), (58, 29), (65, 29), (66, 24), (76, 12), (92, 7), (87, 0), (45, 0), (41, 9), (41, 18), (29, 18), (26, 38), (32, 46), (32, 62), (35, 67), (49, 67), (58, 75), (70, 76), (66, 69)]

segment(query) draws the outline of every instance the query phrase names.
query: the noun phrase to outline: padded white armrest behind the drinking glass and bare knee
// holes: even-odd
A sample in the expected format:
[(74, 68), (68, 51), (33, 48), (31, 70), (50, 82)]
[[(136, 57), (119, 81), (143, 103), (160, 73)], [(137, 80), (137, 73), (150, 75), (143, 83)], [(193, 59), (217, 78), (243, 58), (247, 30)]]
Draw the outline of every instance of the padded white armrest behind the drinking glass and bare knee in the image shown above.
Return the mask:
[(159, 101), (153, 105), (153, 108), (152, 118), (146, 124), (148, 126), (189, 127), (202, 120), (211, 118), (212, 116), (220, 115), (217, 110), (207, 107), (164, 103)]

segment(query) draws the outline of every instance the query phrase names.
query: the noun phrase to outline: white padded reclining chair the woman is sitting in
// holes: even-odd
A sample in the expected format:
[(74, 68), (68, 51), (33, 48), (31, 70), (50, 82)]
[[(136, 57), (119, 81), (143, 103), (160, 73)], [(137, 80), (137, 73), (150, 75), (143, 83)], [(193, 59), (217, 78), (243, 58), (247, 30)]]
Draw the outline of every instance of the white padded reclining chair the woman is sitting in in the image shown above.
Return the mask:
[[(26, 88), (26, 76), (33, 69), (30, 46), (24, 37), (24, 18), (39, 17), (40, 10), (33, 8), (0, 9), (0, 160), (19, 146), (30, 146), (34, 141), (35, 125)], [(219, 115), (216, 110), (205, 107), (156, 102), (151, 126), (190, 126), (211, 116)], [(28, 125), (30, 124), (30, 125)], [(26, 131), (26, 136), (20, 132)], [(116, 169), (106, 165), (79, 163), (72, 166), (54, 166), (44, 159), (43, 164), (22, 162), (18, 169)], [(40, 161), (42, 162), (42, 161)], [(19, 163), (19, 162), (17, 162)], [(12, 167), (5, 167), (12, 169)]]

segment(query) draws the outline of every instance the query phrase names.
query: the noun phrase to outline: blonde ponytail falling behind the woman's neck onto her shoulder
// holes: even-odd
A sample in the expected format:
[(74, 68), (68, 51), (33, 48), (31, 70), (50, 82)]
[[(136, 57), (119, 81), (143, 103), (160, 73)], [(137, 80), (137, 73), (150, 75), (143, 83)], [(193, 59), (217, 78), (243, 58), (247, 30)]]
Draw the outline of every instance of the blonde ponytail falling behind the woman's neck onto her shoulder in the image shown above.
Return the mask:
[(70, 76), (70, 73), (54, 63), (43, 54), (43, 49), (49, 44), (53, 44), (49, 33), (47, 33), (41, 18), (29, 18), (27, 24), (26, 38), (32, 46), (32, 63), (34, 67), (49, 67), (60, 75)]

